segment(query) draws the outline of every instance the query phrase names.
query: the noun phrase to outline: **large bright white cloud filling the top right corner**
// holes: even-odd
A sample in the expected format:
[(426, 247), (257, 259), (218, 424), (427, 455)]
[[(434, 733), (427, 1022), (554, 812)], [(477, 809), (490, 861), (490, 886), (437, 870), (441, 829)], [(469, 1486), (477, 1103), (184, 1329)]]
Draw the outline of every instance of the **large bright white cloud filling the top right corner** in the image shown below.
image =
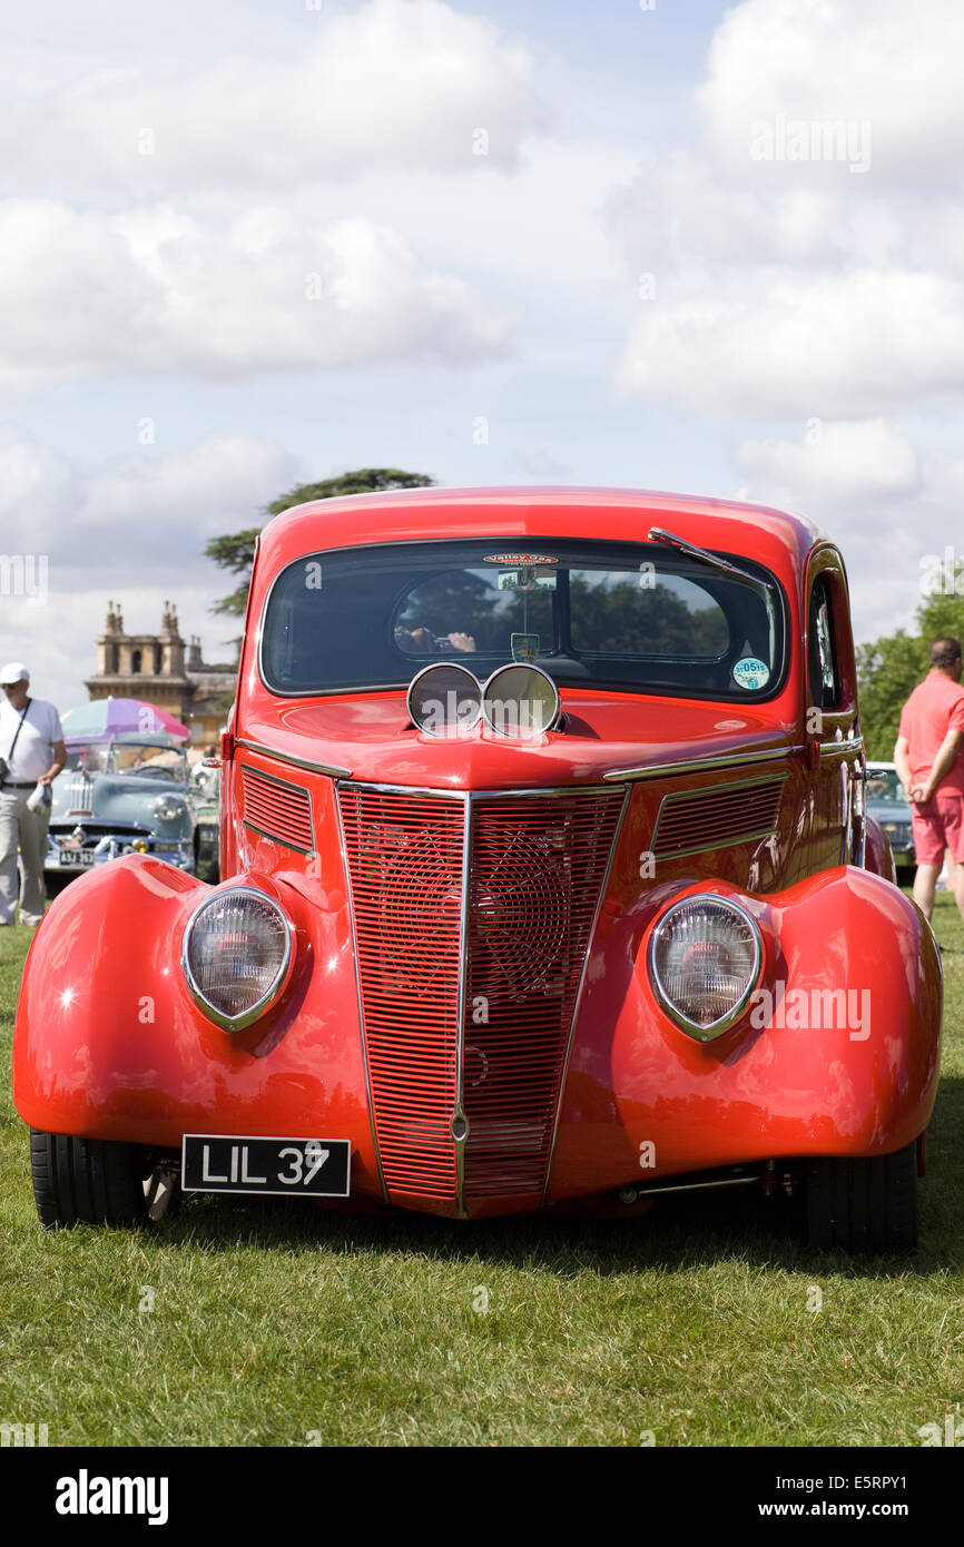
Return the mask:
[[(608, 204), (633, 269), (656, 280), (628, 328), (622, 390), (767, 419), (959, 396), (962, 51), (958, 0), (727, 12), (696, 91), (702, 153), (644, 167)], [(843, 125), (823, 149), (848, 156), (846, 135), (867, 125), (870, 166), (754, 159), (760, 124)]]

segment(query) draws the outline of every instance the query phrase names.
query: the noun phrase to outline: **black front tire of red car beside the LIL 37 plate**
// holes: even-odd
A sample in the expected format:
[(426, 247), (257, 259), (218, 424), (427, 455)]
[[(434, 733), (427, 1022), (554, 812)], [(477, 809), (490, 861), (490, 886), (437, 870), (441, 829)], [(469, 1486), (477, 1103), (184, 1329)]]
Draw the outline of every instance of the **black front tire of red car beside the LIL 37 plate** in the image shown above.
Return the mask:
[(150, 1166), (139, 1145), (31, 1128), (34, 1199), (46, 1230), (73, 1225), (139, 1225), (147, 1219), (144, 1177)]

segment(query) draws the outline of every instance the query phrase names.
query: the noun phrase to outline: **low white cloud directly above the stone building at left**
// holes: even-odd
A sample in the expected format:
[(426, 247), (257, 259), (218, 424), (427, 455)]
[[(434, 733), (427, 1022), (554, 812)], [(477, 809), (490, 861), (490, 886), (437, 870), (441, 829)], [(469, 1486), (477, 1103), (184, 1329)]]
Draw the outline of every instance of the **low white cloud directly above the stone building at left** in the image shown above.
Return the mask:
[[(238, 633), (214, 617), (215, 597), (237, 579), (204, 558), (210, 537), (257, 526), (263, 507), (303, 478), (282, 447), (212, 436), (172, 456), (141, 453), (93, 467), (71, 463), (14, 427), (0, 429), (0, 659), (26, 661), (40, 698), (84, 702), (108, 597), (133, 633), (159, 627), (161, 603), (179, 608), (181, 633), (198, 633), (209, 661), (229, 654)], [(43, 562), (43, 563), (42, 563)], [(32, 579), (15, 593), (11, 575)], [(45, 572), (46, 597), (37, 580)]]

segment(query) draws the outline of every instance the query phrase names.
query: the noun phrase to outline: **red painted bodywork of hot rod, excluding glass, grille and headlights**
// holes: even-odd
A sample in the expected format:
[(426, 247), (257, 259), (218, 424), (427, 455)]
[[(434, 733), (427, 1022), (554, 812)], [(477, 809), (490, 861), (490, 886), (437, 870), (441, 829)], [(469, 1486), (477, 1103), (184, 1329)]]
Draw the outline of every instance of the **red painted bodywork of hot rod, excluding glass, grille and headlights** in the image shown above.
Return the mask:
[[(446, 537), (605, 537), (641, 541), (651, 524), (766, 565), (788, 602), (791, 659), (764, 704), (562, 688), (566, 726), (538, 744), (480, 730), (433, 741), (409, 729), (402, 692), (285, 699), (257, 667), (271, 582), (297, 557), (367, 543)], [(220, 886), (268, 891), (297, 931), (280, 1002), (227, 1033), (190, 996), (184, 924), (212, 888), (147, 855), (80, 877), (40, 925), (17, 1010), (14, 1098), (23, 1120), (62, 1134), (178, 1149), (184, 1132), (350, 1139), (357, 1204), (379, 1199), (359, 1016), (350, 885), (331, 774), (452, 792), (599, 786), (603, 775), (720, 758), (707, 770), (630, 783), (591, 937), (545, 1194), (469, 1202), (472, 1216), (596, 1196), (702, 1168), (899, 1149), (927, 1126), (936, 1094), (941, 965), (930, 927), (893, 885), (877, 832), (856, 831), (862, 755), (825, 746), (808, 722), (806, 597), (834, 586), (840, 707), (820, 739), (859, 735), (846, 579), (809, 523), (763, 507), (625, 490), (418, 490), (302, 506), (262, 534), (238, 698), (224, 738)], [(251, 750), (257, 744), (266, 750)], [(772, 761), (746, 766), (746, 753)], [(843, 752), (843, 755), (840, 755)], [(727, 761), (732, 760), (732, 761)], [(314, 855), (240, 820), (240, 764), (309, 791)], [(667, 860), (641, 879), (667, 792), (786, 775), (777, 832)], [(849, 863), (863, 859), (863, 866)], [(763, 987), (873, 987), (868, 1035), (755, 1027), (744, 1016), (710, 1044), (681, 1032), (647, 975), (653, 922), (693, 891), (733, 896), (760, 920)], [(860, 1002), (857, 999), (857, 1002)], [(655, 1165), (641, 1165), (653, 1145)], [(453, 1214), (455, 1202), (395, 1202)]]

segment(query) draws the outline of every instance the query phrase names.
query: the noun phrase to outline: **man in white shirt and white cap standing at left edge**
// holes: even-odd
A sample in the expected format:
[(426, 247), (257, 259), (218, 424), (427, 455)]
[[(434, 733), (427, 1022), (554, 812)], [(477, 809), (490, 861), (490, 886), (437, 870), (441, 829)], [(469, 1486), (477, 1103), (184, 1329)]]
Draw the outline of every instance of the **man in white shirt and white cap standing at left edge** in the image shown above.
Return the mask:
[[(22, 661), (0, 670), (0, 927), (14, 922), (17, 907), (17, 851), (23, 866), (20, 924), (40, 924), (46, 897), (43, 859), (50, 806), (28, 809), (37, 784), (50, 784), (67, 764), (60, 716), (53, 704), (31, 698), (29, 671)], [(2, 764), (0, 764), (2, 769)]]

